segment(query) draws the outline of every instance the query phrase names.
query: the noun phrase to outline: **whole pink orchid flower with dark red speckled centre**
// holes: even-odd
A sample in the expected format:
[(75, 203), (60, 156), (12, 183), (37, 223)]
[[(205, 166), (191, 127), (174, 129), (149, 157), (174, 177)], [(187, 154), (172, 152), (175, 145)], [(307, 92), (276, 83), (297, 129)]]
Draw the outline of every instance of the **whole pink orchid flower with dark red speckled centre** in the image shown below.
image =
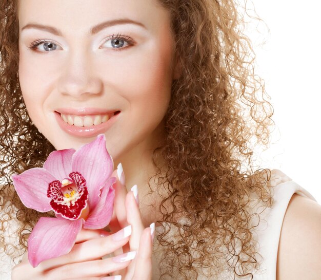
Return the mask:
[(106, 227), (113, 213), (115, 177), (113, 160), (104, 134), (77, 151), (50, 153), (43, 168), (12, 175), (14, 188), (28, 208), (52, 210), (56, 218), (41, 217), (28, 240), (33, 267), (43, 260), (71, 251), (76, 236), (85, 229)]

